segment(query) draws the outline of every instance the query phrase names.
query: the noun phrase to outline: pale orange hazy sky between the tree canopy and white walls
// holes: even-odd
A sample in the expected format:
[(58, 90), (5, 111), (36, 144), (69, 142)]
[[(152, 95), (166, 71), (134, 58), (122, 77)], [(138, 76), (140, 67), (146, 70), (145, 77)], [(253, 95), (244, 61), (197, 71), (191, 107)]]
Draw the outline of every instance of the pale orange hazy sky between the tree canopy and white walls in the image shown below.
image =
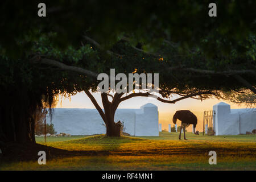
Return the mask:
[[(102, 107), (101, 103), (101, 96), (100, 93), (93, 93), (93, 96), (96, 98), (98, 104)], [(178, 98), (178, 96), (172, 97), (172, 99)], [(231, 109), (238, 109), (238, 108), (244, 108), (245, 106), (239, 106), (237, 104), (232, 104), (227, 101), (217, 100), (217, 99), (208, 99), (205, 101), (195, 100), (192, 98), (187, 98), (185, 100), (181, 100), (179, 102), (176, 102), (176, 104), (168, 104), (163, 103), (155, 98), (148, 98), (148, 97), (134, 97), (130, 98), (129, 100), (121, 102), (119, 105), (119, 109), (122, 108), (131, 108), (131, 109), (137, 109), (141, 107), (144, 104), (147, 104), (148, 102), (155, 104), (158, 106), (159, 111), (159, 123), (162, 123), (162, 129), (168, 130), (168, 124), (172, 123), (172, 116), (174, 115), (176, 110), (191, 110), (192, 113), (194, 113), (198, 118), (198, 125), (196, 127), (196, 130), (202, 131), (203, 130), (203, 112), (205, 110), (212, 110), (212, 106), (214, 104), (217, 104), (218, 102), (226, 102), (231, 105)], [(75, 96), (72, 96), (69, 98), (62, 98), (59, 97), (59, 102), (56, 107), (62, 107), (62, 108), (90, 108), (95, 109), (92, 102), (89, 100), (88, 96), (84, 92), (77, 93)], [(178, 126), (180, 125), (180, 122), (178, 121)], [(192, 131), (191, 127), (188, 127), (188, 131)]]

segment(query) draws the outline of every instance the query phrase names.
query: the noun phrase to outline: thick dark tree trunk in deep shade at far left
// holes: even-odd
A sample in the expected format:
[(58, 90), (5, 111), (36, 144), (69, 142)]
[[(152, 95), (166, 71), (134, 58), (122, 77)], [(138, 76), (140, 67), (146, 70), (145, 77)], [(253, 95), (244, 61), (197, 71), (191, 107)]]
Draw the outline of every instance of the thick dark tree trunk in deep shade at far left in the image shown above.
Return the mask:
[(0, 104), (0, 147), (9, 142), (36, 143), (34, 133), (36, 104), (28, 99), (24, 102), (22, 90), (18, 90), (18, 93), (15, 91), (5, 94)]

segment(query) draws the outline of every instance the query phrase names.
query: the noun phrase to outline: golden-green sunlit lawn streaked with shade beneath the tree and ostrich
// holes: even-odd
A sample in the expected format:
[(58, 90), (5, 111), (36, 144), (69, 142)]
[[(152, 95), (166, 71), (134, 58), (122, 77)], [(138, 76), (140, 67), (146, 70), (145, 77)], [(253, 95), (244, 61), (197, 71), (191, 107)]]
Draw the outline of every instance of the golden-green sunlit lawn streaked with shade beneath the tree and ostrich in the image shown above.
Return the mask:
[[(160, 133), (160, 137), (109, 138), (104, 135), (47, 137), (47, 146), (77, 152), (37, 160), (4, 162), (2, 170), (256, 170), (256, 135), (207, 136)], [(36, 141), (44, 144), (43, 137)], [(217, 165), (209, 165), (209, 151)], [(51, 155), (51, 154), (47, 154)]]

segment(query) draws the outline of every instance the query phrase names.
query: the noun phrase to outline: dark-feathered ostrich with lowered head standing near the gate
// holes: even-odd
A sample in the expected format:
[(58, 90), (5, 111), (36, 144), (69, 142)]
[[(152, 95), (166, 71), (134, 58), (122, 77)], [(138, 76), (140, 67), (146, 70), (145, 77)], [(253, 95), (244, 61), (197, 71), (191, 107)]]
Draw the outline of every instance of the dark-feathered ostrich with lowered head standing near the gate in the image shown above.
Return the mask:
[(196, 129), (196, 125), (197, 125), (197, 117), (195, 114), (191, 113), (191, 111), (189, 111), (189, 110), (178, 110), (174, 114), (174, 118), (172, 118), (172, 121), (174, 122), (174, 124), (176, 124), (177, 119), (179, 119), (181, 121), (179, 139), (181, 137), (181, 129), (183, 129), (184, 140), (187, 140), (186, 135), (185, 135), (185, 128), (188, 127), (189, 125), (194, 125), (193, 130), (195, 133), (195, 129)]

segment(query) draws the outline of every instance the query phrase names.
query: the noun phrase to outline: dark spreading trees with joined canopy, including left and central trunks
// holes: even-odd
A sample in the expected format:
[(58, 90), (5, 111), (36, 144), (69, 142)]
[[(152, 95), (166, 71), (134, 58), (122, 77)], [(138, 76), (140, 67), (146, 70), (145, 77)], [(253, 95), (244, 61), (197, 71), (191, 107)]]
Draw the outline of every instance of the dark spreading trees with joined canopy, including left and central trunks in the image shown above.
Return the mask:
[[(44, 18), (37, 16), (39, 2), (1, 3), (0, 141), (5, 143), (35, 143), (36, 110), (51, 108), (58, 94), (81, 91), (96, 106), (107, 134), (118, 136), (118, 105), (152, 93), (102, 93), (102, 110), (89, 90), (96, 92), (98, 73), (111, 68), (116, 74), (159, 73), (157, 99), (173, 104), (246, 89), (256, 93), (254, 1), (216, 2), (214, 18), (208, 16), (208, 1), (46, 1)], [(172, 94), (180, 98), (171, 100)]]

